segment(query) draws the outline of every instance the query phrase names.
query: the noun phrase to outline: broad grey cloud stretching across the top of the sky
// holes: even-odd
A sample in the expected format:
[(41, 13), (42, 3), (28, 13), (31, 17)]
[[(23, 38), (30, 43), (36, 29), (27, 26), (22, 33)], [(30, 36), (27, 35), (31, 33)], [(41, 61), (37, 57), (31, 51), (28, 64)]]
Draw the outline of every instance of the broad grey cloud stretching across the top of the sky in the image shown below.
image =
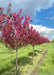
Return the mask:
[(12, 3), (13, 11), (22, 8), (23, 15), (27, 13), (33, 17), (35, 10), (40, 11), (52, 7), (54, 0), (0, 0), (0, 6), (7, 7), (9, 2)]

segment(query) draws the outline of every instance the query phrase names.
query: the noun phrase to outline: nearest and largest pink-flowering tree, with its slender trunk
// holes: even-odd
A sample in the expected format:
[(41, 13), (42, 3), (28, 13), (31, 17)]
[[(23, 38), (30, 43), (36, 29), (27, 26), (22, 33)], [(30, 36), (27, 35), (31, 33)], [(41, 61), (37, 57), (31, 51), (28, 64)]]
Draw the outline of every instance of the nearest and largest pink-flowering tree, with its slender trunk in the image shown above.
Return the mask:
[[(2, 39), (4, 40), (5, 44), (8, 43), (9, 47), (16, 50), (16, 71), (15, 75), (17, 74), (17, 56), (18, 56), (18, 48), (25, 46), (27, 42), (25, 40), (28, 40), (26, 38), (27, 34), (27, 28), (29, 25), (29, 22), (32, 22), (32, 19), (30, 19), (29, 16), (25, 16), (25, 19), (20, 17), (22, 9), (18, 13), (14, 12), (12, 13), (12, 18), (8, 16), (7, 20), (5, 21), (5, 24), (2, 27)], [(22, 20), (23, 23), (22, 23)]]

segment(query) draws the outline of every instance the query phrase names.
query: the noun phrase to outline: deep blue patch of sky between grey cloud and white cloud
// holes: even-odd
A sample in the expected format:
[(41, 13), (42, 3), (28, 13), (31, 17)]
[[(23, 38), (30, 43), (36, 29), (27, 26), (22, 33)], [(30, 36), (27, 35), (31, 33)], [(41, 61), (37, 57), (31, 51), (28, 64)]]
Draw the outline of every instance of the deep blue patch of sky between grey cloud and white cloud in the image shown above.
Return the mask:
[(42, 24), (48, 28), (54, 28), (54, 4), (48, 9), (41, 9), (40, 12), (36, 11), (36, 16), (33, 18), (32, 24)]

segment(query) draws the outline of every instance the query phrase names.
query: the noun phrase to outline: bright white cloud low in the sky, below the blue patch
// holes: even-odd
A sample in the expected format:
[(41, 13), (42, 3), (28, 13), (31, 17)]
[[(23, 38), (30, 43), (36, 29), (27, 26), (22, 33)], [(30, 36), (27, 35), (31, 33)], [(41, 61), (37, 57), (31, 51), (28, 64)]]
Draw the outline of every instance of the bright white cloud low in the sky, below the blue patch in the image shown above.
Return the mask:
[(43, 25), (32, 25), (36, 31), (38, 31), (41, 35), (44, 35), (45, 37), (48, 37), (50, 40), (54, 38), (54, 29), (52, 28), (47, 28), (46, 26)]

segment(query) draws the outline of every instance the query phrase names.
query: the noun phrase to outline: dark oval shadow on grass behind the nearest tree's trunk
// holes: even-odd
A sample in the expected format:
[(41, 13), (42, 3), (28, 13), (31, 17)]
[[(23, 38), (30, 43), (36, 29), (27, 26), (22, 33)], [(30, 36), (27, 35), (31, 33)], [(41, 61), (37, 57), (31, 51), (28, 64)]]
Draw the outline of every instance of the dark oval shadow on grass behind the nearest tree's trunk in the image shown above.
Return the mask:
[[(22, 66), (25, 66), (26, 64), (30, 64), (32, 62), (32, 59), (29, 58), (29, 57), (20, 57), (17, 59), (18, 61), (18, 65), (22, 65)], [(13, 65), (16, 64), (16, 59), (12, 60), (11, 63)]]

